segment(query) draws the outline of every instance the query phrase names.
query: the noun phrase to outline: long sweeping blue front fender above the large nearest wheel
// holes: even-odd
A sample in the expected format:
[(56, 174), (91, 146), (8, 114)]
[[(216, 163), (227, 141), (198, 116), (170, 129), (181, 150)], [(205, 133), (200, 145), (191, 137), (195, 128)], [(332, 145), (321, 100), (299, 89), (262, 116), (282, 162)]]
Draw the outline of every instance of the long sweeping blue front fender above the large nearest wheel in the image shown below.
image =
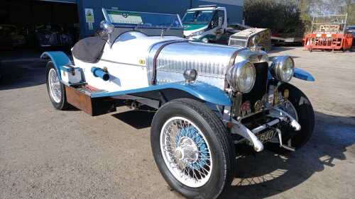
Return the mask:
[(185, 81), (175, 82), (171, 84), (160, 84), (155, 86), (148, 86), (142, 89), (131, 89), (126, 91), (116, 91), (116, 92), (101, 92), (101, 93), (92, 93), (92, 98), (100, 98), (100, 97), (110, 97), (110, 96), (121, 96), (126, 94), (133, 93), (142, 93), (148, 91), (158, 91), (163, 89), (177, 89), (180, 91), (185, 91), (190, 93), (192, 96), (196, 98), (200, 98), (203, 101), (207, 101), (209, 103), (214, 103), (220, 106), (231, 106), (231, 99), (226, 94), (226, 92), (218, 89), (215, 86), (211, 86), (209, 84), (205, 84), (203, 82), (197, 81), (193, 84), (185, 84)]

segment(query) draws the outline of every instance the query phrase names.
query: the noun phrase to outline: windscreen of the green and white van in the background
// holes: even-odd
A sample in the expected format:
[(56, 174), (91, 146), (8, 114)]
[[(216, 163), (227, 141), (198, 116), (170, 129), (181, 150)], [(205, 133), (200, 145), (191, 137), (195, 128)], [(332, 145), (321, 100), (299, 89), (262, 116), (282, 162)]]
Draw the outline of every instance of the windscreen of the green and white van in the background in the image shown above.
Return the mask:
[(182, 18), (183, 24), (206, 24), (212, 20), (214, 11), (187, 11)]

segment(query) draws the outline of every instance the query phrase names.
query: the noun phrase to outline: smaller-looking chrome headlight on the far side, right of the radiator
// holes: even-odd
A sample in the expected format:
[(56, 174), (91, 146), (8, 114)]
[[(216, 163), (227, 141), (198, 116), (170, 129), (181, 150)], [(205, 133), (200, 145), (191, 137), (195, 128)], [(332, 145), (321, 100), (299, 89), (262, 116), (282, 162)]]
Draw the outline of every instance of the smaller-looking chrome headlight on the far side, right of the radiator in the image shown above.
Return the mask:
[(290, 81), (294, 72), (295, 62), (290, 56), (276, 57), (271, 64), (271, 73), (279, 81)]

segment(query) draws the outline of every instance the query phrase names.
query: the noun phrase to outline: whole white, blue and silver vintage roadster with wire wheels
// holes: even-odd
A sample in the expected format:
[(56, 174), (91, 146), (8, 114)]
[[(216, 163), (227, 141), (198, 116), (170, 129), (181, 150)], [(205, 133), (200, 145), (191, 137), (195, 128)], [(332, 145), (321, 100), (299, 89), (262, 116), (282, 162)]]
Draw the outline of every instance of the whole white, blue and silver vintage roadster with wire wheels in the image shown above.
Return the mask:
[(179, 16), (103, 9), (104, 37), (63, 52), (44, 52), (50, 101), (90, 115), (122, 104), (156, 111), (155, 162), (187, 198), (217, 198), (234, 178), (236, 145), (261, 152), (302, 147), (314, 113), (293, 77), (314, 81), (290, 56), (269, 60), (245, 47), (182, 38)]

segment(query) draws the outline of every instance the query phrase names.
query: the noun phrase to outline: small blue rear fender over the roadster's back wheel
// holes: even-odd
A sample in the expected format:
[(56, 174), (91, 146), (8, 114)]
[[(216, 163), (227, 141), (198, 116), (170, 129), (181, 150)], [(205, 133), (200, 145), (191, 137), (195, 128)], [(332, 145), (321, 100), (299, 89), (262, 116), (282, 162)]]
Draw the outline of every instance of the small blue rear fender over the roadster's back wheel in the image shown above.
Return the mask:
[(55, 69), (57, 69), (59, 79), (61, 80), (62, 77), (60, 76), (60, 70), (63, 66), (71, 65), (72, 61), (70, 61), (69, 57), (62, 52), (62, 51), (50, 51), (50, 52), (43, 52), (40, 55), (40, 59), (51, 59)]

